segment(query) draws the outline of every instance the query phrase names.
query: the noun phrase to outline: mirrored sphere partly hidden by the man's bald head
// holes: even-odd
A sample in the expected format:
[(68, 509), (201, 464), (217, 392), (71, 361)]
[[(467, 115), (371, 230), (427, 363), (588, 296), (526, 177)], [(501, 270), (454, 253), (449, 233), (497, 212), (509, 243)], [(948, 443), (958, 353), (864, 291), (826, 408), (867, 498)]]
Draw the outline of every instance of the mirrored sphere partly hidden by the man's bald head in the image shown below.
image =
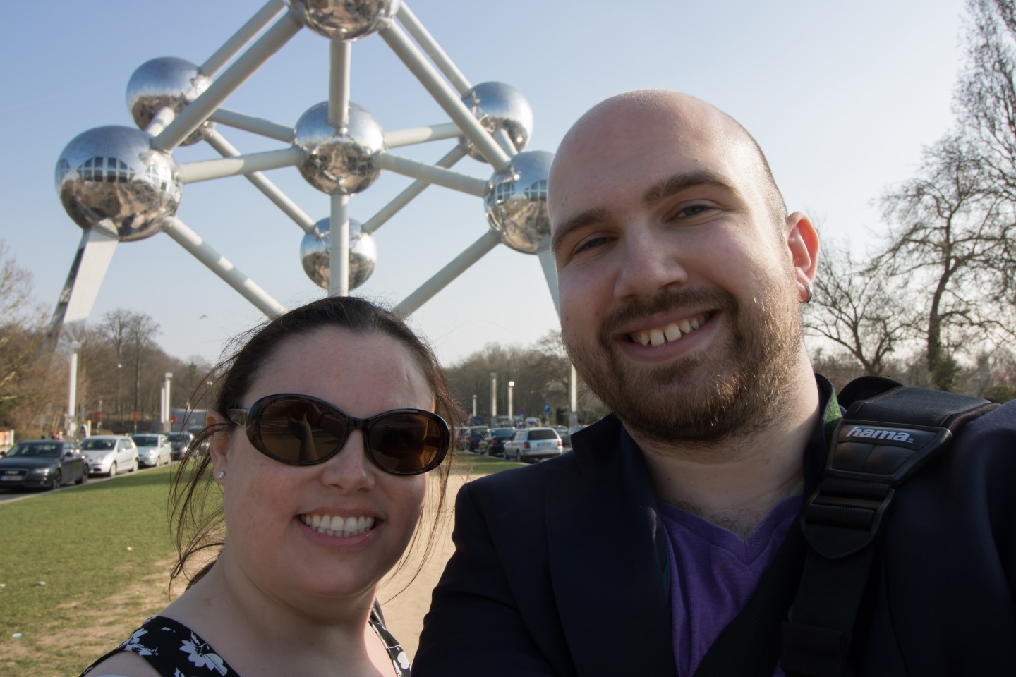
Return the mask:
[(517, 252), (535, 254), (551, 233), (547, 215), (547, 176), (554, 153), (530, 150), (512, 157), (487, 182), (484, 210), (501, 242)]

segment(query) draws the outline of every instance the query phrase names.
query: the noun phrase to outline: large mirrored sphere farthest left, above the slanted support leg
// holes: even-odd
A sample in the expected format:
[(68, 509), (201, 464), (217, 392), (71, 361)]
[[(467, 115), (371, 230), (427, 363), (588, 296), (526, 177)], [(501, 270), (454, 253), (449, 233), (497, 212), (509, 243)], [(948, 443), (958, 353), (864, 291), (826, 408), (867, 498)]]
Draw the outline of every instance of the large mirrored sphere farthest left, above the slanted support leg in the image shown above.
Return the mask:
[(103, 227), (120, 242), (142, 240), (176, 214), (181, 185), (173, 156), (151, 146), (151, 135), (130, 127), (98, 127), (60, 153), (56, 188), (64, 209), (82, 228)]

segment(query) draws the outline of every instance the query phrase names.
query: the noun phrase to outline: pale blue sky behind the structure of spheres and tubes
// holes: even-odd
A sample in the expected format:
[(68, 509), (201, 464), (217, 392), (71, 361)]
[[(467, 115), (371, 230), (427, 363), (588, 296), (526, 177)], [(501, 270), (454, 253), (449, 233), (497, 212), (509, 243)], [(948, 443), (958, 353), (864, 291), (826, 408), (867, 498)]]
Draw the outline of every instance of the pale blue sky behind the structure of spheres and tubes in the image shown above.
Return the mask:
[[(726, 0), (417, 0), (420, 20), (472, 82), (507, 82), (528, 99), (527, 150), (556, 150), (574, 120), (611, 94), (658, 86), (726, 111), (758, 139), (790, 210), (808, 211), (824, 238), (862, 251), (884, 228), (873, 201), (907, 179), (924, 145), (952, 125), (962, 65), (963, 3)], [(139, 3), (5, 2), (0, 8), (0, 238), (35, 276), (34, 299), (52, 310), (81, 231), (53, 188), (63, 147), (103, 125), (130, 126), (125, 88), (145, 61), (203, 62), (249, 18), (259, 0)], [(386, 130), (447, 116), (376, 36), (353, 47), (352, 99)], [(225, 107), (293, 125), (328, 95), (328, 44), (296, 36)], [(219, 127), (244, 152), (277, 141)], [(396, 152), (434, 161), (453, 142)], [(204, 145), (178, 161), (217, 155)], [(455, 167), (487, 179), (489, 165)], [(294, 167), (267, 173), (308, 214), (328, 197)], [(384, 175), (351, 200), (366, 221), (408, 179)], [(324, 292), (299, 260), (303, 231), (246, 180), (184, 188), (180, 218), (287, 307)], [(378, 266), (356, 293), (396, 303), (487, 229), (482, 201), (430, 188), (377, 233)], [(168, 235), (121, 245), (92, 311), (149, 314), (161, 345), (186, 358), (218, 356), (226, 339), (259, 312)], [(202, 318), (201, 316), (206, 316)], [(557, 326), (539, 262), (500, 246), (412, 316), (446, 364), (484, 344), (527, 344)]]

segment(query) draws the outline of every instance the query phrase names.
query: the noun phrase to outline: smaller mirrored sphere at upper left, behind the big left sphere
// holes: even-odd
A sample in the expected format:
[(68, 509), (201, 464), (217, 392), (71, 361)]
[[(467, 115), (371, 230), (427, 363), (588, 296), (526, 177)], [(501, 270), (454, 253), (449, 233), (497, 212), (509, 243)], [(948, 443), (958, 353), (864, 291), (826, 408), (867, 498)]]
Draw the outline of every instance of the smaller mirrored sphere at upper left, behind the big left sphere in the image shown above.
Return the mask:
[[(175, 57), (152, 59), (134, 71), (127, 83), (127, 109), (134, 124), (144, 129), (161, 108), (179, 114), (211, 84), (211, 78), (189, 61)], [(202, 141), (213, 123), (205, 122), (182, 145)]]

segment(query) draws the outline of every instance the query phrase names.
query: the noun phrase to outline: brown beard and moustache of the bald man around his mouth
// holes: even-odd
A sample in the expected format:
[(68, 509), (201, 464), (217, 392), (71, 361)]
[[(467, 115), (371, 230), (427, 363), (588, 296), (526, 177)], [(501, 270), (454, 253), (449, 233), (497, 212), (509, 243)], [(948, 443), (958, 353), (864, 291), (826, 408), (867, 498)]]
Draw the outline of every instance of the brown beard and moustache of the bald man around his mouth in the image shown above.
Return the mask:
[[(635, 318), (676, 308), (718, 309), (731, 331), (695, 355), (631, 364), (615, 345)], [(717, 444), (751, 436), (785, 413), (787, 382), (802, 345), (792, 290), (773, 289), (742, 308), (725, 291), (661, 292), (604, 318), (592, 346), (563, 332), (575, 369), (637, 438), (660, 445)], [(688, 340), (680, 338), (679, 341)]]

